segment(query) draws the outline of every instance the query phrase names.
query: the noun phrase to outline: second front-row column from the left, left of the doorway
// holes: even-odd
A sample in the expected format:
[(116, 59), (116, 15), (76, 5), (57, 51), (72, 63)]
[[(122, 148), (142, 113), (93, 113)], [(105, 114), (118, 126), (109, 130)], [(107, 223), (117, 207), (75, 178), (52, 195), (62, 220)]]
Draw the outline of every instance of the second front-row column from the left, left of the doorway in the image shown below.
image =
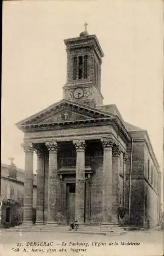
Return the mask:
[(46, 142), (49, 151), (47, 224), (56, 224), (57, 142)]

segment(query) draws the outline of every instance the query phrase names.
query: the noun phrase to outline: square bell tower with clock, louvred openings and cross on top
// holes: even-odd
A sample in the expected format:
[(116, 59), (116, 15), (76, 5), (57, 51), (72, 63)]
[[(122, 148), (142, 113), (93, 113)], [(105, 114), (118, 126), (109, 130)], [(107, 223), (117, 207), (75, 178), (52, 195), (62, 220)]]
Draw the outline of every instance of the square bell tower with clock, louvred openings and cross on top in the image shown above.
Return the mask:
[(89, 104), (102, 105), (101, 64), (104, 56), (96, 35), (89, 35), (87, 23), (79, 37), (65, 39), (67, 52), (67, 82), (63, 98)]

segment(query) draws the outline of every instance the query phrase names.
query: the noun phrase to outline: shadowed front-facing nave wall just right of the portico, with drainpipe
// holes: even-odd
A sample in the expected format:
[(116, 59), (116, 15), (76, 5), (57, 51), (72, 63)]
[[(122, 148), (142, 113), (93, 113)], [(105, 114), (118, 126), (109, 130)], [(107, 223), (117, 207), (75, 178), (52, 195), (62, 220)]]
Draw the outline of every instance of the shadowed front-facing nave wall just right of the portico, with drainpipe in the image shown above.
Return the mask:
[[(128, 221), (131, 143), (127, 147), (128, 160), (126, 165), (126, 221)], [(144, 142), (133, 142), (131, 169), (131, 203), (130, 224), (143, 225), (144, 215)]]

